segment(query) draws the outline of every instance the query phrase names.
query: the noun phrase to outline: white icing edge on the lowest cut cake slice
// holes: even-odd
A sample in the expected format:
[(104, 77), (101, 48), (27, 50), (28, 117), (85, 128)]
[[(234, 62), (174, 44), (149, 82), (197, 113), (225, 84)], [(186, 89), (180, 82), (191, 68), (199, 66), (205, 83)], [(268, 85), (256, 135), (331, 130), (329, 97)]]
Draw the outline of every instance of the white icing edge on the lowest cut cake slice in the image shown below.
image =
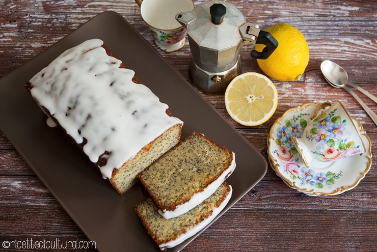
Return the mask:
[(196, 226), (191, 227), (190, 229), (187, 229), (185, 233), (178, 236), (175, 240), (167, 242), (167, 243), (159, 244), (159, 247), (160, 248), (174, 247), (174, 246), (182, 243), (185, 239), (192, 237), (193, 235), (198, 233), (200, 230), (204, 229), (205, 226), (207, 226), (209, 224), (209, 222), (211, 222), (214, 219), (214, 217), (216, 217), (224, 209), (224, 207), (228, 204), (230, 198), (232, 197), (232, 192), (233, 192), (232, 186), (229, 185), (229, 187), (230, 187), (230, 192), (228, 193), (225, 200), (220, 204), (220, 206), (218, 208), (213, 208), (213, 212), (212, 212), (211, 216), (204, 219), (202, 222), (198, 223)]

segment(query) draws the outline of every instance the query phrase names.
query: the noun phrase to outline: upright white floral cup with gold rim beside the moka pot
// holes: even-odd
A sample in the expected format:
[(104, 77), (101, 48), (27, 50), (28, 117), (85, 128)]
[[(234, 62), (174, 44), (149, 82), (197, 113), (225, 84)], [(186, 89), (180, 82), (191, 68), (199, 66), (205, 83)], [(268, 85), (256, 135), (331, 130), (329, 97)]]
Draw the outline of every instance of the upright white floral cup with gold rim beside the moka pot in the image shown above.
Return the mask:
[(183, 47), (186, 29), (175, 19), (175, 15), (192, 11), (192, 0), (135, 0), (140, 6), (140, 13), (148, 25), (158, 48), (166, 52)]

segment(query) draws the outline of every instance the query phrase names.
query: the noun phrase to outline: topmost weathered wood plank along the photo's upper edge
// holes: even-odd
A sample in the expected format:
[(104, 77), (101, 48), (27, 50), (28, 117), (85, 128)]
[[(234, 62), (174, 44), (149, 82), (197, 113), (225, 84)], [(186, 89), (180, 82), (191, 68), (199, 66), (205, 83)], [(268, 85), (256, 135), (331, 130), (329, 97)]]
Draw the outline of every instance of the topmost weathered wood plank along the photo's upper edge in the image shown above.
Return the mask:
[[(2, 11), (12, 12), (98, 12), (98, 10), (111, 9), (119, 13), (139, 10), (132, 0), (113, 1), (38, 1), (29, 2), (4, 0)], [(2, 3), (0, 2), (0, 3)], [(205, 0), (195, 1), (200, 4)], [(318, 16), (318, 17), (342, 17), (342, 16), (363, 16), (374, 17), (375, 5), (373, 1), (294, 1), (284, 2), (279, 0), (271, 1), (233, 1), (233, 3), (244, 12), (246, 16)]]

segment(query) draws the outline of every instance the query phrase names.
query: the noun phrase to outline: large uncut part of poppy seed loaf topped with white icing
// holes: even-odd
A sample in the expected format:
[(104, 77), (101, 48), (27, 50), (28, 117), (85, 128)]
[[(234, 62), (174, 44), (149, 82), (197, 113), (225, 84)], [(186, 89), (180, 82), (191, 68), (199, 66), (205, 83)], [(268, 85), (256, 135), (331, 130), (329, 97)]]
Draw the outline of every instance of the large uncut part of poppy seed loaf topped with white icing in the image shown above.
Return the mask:
[(100, 39), (66, 50), (25, 87), (121, 194), (180, 141), (183, 122)]

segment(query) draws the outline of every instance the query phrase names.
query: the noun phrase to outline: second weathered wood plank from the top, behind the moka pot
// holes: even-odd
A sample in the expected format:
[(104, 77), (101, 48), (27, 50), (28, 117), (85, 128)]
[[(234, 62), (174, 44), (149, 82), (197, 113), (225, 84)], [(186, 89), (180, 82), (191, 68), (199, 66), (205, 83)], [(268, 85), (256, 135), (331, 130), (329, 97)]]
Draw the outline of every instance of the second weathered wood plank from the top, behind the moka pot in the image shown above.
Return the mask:
[[(4, 34), (67, 33), (77, 29), (80, 24), (85, 23), (100, 12), (12, 12), (6, 14), (3, 23), (1, 23), (1, 27)], [(122, 13), (120, 12), (120, 14)], [(142, 21), (139, 12), (132, 11), (130, 13), (123, 13), (122, 16), (130, 22), (135, 29), (143, 31), (143, 35), (144, 33), (148, 34), (148, 30), (144, 29), (146, 25)], [(263, 21), (259, 21), (258, 19), (262, 19)], [(306, 38), (327, 38), (329, 40), (334, 37), (375, 38), (377, 33), (375, 29), (377, 20), (374, 17), (338, 17), (337, 19), (329, 20), (329, 17), (305, 16), (296, 19), (292, 19), (290, 16), (282, 17), (279, 15), (258, 18), (247, 16), (247, 21), (257, 23), (262, 30), (276, 23), (289, 23), (302, 31)], [(136, 20), (139, 22), (136, 22)], [(347, 29), (343, 27), (347, 27)], [(331, 37), (329, 37), (330, 35)]]

